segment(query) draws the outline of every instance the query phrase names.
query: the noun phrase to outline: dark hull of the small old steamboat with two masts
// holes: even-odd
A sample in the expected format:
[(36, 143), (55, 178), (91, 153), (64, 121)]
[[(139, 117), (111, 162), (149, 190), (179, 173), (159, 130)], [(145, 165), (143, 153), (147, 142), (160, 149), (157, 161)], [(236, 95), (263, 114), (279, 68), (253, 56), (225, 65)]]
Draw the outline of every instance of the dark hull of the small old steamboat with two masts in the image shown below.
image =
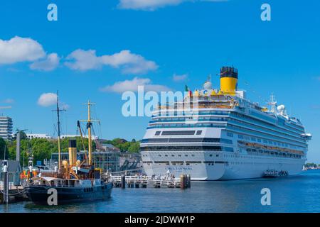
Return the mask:
[(50, 205), (48, 202), (50, 201), (49, 196), (51, 196), (53, 192), (50, 192), (49, 189), (55, 189), (57, 192), (57, 204), (60, 205), (110, 198), (112, 187), (112, 182), (86, 188), (28, 185), (26, 186), (26, 194), (34, 204)]

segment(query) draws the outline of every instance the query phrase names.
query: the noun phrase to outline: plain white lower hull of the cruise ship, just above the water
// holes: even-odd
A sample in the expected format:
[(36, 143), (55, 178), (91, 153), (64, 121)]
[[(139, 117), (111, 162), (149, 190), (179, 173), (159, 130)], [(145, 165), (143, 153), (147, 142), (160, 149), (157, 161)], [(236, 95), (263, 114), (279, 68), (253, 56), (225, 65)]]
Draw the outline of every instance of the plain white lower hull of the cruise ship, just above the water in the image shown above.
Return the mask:
[[(230, 155), (226, 153), (225, 155)], [(190, 164), (190, 165), (161, 165), (161, 164), (144, 164), (146, 175), (166, 175), (168, 171), (175, 177), (182, 174), (191, 175), (192, 180), (228, 180), (228, 179), (249, 179), (263, 177), (266, 170), (287, 171), (288, 175), (297, 175), (302, 172), (304, 160), (288, 159), (288, 158), (273, 158), (260, 157), (256, 160), (254, 156), (236, 155), (221, 161), (215, 159), (213, 165), (205, 163)], [(203, 160), (203, 162), (206, 162)], [(229, 165), (225, 165), (227, 163)], [(234, 163), (234, 164), (233, 164)]]

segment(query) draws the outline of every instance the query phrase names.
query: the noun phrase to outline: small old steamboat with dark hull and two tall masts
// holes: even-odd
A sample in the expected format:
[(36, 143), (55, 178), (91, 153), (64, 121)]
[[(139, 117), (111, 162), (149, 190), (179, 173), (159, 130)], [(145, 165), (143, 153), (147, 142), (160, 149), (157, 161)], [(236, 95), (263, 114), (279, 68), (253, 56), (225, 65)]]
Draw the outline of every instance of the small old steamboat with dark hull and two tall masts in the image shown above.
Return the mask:
[[(90, 118), (90, 106), (88, 101), (88, 159), (77, 160), (76, 140), (69, 140), (69, 160), (61, 162), (60, 156), (60, 119), (57, 98), (58, 113), (58, 167), (53, 171), (40, 172), (26, 182), (26, 194), (35, 204), (58, 205), (83, 201), (95, 201), (107, 199), (112, 192), (112, 179), (108, 175), (101, 174), (99, 169), (92, 165), (92, 119)], [(78, 123), (78, 127), (80, 124)], [(80, 128), (81, 130), (81, 128)], [(81, 134), (82, 138), (82, 134)], [(83, 138), (82, 138), (83, 139)], [(83, 143), (82, 143), (83, 145)]]

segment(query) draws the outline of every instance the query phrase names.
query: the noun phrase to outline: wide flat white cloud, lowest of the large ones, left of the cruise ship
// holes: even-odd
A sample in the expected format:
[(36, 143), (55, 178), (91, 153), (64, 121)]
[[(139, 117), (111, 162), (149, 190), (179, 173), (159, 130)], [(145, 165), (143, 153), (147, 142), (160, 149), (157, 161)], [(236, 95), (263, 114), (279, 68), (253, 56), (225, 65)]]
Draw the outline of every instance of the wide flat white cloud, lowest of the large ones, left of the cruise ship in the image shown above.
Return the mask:
[(124, 80), (121, 82), (115, 82), (111, 86), (103, 87), (101, 92), (115, 92), (122, 93), (127, 91), (137, 92), (138, 86), (144, 86), (144, 91), (153, 91), (153, 92), (168, 92), (171, 91), (169, 87), (159, 84), (152, 84), (151, 79), (149, 78), (138, 78), (134, 77), (132, 80)]

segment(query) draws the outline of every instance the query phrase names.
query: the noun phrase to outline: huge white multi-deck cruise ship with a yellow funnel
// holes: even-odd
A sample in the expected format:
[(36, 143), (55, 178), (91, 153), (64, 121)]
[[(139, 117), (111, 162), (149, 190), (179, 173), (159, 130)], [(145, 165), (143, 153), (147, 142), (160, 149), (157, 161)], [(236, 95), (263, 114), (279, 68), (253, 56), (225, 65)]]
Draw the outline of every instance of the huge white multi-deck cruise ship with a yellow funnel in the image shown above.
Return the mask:
[(269, 108), (238, 90), (238, 70), (220, 68), (180, 101), (152, 112), (140, 150), (146, 175), (191, 175), (192, 180), (249, 179), (266, 172), (302, 171), (311, 134), (271, 96)]

